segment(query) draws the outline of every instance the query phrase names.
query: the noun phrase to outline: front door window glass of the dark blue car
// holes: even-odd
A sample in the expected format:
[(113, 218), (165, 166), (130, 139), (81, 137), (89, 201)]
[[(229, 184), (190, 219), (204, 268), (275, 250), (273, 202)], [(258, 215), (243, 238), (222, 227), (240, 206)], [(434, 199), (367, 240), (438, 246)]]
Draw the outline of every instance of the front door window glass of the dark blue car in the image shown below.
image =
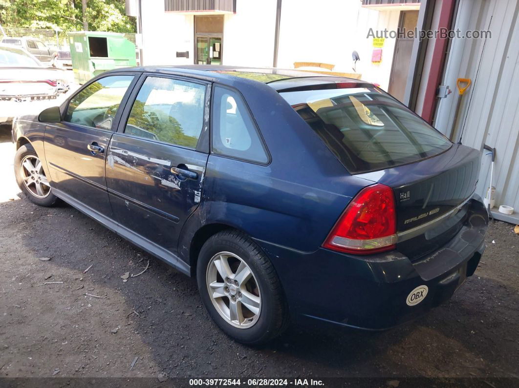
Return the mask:
[(111, 130), (115, 113), (132, 80), (133, 76), (109, 76), (91, 83), (70, 100), (65, 121)]

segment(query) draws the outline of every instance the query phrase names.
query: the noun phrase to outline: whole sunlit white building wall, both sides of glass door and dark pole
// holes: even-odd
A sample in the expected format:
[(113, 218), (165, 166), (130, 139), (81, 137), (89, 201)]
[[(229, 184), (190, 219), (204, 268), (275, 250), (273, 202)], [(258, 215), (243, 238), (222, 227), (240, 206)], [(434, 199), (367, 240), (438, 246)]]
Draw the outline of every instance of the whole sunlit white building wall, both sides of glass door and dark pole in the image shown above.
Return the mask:
[[(223, 64), (270, 67), (274, 57), (277, 0), (237, 0), (236, 13), (226, 13), (223, 32)], [(334, 71), (353, 73), (351, 53), (361, 60), (362, 79), (387, 90), (395, 39), (386, 39), (383, 58), (371, 62), (374, 30), (396, 30), (400, 11), (375, 11), (357, 0), (283, 0), (278, 67), (294, 68), (294, 62), (323, 62)], [(166, 12), (162, 0), (142, 2), (143, 63), (183, 65), (194, 63), (194, 15)], [(176, 58), (189, 51), (189, 58)]]

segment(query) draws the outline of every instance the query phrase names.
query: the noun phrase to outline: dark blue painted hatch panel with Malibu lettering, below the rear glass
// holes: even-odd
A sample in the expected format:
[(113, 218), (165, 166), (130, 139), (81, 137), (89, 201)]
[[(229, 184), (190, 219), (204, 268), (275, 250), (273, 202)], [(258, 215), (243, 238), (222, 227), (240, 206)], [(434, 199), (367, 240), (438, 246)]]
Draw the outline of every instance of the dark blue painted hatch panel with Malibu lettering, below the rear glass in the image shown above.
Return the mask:
[(412, 260), (438, 250), (466, 221), (480, 168), (480, 153), (453, 145), (430, 159), (360, 176), (393, 189), (397, 249)]

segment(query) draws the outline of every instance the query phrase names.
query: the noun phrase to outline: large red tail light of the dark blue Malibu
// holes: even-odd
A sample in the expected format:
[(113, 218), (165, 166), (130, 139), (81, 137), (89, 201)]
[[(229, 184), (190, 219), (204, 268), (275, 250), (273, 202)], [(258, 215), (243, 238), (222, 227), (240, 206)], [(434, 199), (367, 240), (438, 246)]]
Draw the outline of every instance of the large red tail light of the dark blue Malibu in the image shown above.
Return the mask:
[(393, 190), (374, 184), (361, 190), (326, 237), (324, 248), (370, 254), (395, 248), (397, 215)]

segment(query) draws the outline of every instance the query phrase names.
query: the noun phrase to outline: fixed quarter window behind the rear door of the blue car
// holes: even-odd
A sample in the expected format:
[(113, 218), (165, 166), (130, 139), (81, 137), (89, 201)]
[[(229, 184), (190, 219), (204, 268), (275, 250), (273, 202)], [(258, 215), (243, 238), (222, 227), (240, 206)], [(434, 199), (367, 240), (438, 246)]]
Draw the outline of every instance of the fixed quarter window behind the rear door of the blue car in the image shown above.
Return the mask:
[(213, 152), (250, 162), (268, 163), (263, 141), (242, 97), (230, 89), (216, 87), (213, 101)]

